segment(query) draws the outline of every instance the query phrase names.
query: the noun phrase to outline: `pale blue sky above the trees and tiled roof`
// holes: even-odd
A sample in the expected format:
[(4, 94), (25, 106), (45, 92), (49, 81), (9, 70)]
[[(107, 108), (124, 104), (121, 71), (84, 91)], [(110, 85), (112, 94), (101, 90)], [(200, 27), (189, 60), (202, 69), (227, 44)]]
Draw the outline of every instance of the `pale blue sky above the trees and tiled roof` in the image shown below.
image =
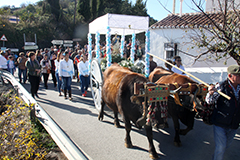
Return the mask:
[[(1, 6), (5, 5), (14, 5), (15, 7), (19, 7), (22, 3), (25, 4), (33, 4), (38, 2), (39, 0), (1, 0), (2, 2), (0, 3)], [(133, 4), (135, 4), (136, 0), (129, 0), (132, 1)], [(167, 12), (161, 5), (161, 2), (169, 11), (172, 12), (173, 8), (173, 0), (147, 0), (147, 12), (148, 14), (153, 17), (156, 20), (161, 20), (164, 17), (166, 17), (169, 12)], [(193, 4), (191, 3), (191, 0), (184, 0), (183, 1), (183, 8), (182, 12), (183, 13), (190, 13), (190, 12), (196, 12), (192, 10), (191, 8), (193, 7)], [(180, 0), (176, 0), (176, 10), (175, 13), (179, 13), (179, 8), (180, 8)], [(205, 8), (205, 6), (204, 6)]]

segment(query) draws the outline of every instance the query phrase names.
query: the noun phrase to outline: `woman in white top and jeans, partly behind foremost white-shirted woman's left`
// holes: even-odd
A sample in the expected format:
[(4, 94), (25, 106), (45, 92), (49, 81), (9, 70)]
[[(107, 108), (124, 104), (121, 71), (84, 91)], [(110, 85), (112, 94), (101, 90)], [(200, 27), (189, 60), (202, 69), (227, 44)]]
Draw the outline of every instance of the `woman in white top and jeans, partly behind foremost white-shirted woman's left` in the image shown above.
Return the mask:
[(58, 52), (58, 55), (57, 55), (57, 59), (55, 59), (55, 75), (56, 75), (56, 78), (57, 78), (57, 88), (58, 88), (58, 92), (59, 92), (59, 96), (62, 96), (61, 94), (61, 89), (62, 89), (62, 81), (60, 81), (59, 79), (59, 70), (60, 70), (60, 61), (63, 59), (63, 53), (61, 51)]

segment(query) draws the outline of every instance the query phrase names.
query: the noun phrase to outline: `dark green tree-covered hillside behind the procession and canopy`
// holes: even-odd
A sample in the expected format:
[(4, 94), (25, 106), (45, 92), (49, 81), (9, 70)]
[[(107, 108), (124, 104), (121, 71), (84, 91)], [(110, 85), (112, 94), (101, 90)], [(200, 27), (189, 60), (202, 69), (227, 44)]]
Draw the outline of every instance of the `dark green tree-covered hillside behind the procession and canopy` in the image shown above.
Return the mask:
[[(9, 23), (0, 18), (0, 35), (4, 34), (8, 39), (5, 46), (23, 50), (23, 34), (26, 35), (27, 42), (34, 42), (36, 34), (39, 48), (50, 47), (53, 39), (77, 38), (81, 39), (80, 44), (84, 45), (87, 43), (89, 22), (99, 16), (106, 13), (149, 16), (143, 0), (138, 0), (135, 5), (125, 0), (85, 2), (89, 6), (82, 6), (80, 1), (75, 4), (74, 0), (44, 0), (36, 4), (23, 4), (21, 8), (0, 8), (0, 15), (3, 17), (13, 15), (20, 18), (18, 23)], [(150, 25), (155, 22), (156, 20), (150, 18)]]

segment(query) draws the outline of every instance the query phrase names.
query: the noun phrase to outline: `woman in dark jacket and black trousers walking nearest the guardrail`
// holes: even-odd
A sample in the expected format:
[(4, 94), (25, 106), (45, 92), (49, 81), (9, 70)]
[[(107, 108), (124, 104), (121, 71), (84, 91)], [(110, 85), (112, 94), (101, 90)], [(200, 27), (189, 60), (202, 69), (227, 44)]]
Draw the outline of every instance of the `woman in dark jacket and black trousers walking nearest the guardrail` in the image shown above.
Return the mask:
[(35, 53), (30, 52), (29, 59), (26, 62), (27, 75), (29, 77), (29, 82), (31, 85), (31, 93), (33, 98), (34, 96), (38, 97), (37, 91), (39, 89), (40, 72), (41, 72), (41, 67), (35, 58), (36, 58)]

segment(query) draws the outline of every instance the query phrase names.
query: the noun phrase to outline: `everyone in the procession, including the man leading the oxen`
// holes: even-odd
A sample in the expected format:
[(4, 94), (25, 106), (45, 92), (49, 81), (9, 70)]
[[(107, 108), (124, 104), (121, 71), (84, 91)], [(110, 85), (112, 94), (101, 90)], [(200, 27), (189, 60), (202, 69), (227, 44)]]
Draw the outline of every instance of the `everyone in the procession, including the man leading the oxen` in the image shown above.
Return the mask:
[[(126, 59), (130, 57), (131, 41), (125, 42), (124, 55)], [(25, 84), (30, 83), (30, 92), (33, 98), (40, 98), (38, 95), (39, 85), (41, 82), (44, 88), (48, 89), (49, 75), (53, 80), (53, 87), (58, 91), (58, 95), (64, 96), (64, 99), (73, 100), (72, 96), (72, 80), (77, 79), (80, 86), (79, 94), (86, 97), (90, 84), (90, 71), (88, 61), (87, 45), (80, 47), (78, 44), (73, 49), (62, 49), (57, 46), (52, 46), (50, 50), (36, 50), (31, 52), (21, 52), (18, 58), (9, 52), (9, 50), (1, 51), (0, 55), (0, 70), (9, 71), (12, 75), (15, 74), (18, 68), (19, 82)], [(93, 51), (94, 53), (94, 45)], [(143, 49), (136, 45), (135, 60), (142, 60), (145, 56)], [(10, 54), (9, 54), (10, 53)], [(101, 46), (101, 58), (106, 57), (106, 47)], [(96, 56), (96, 55), (95, 55)], [(94, 58), (94, 57), (92, 57)], [(173, 57), (168, 60), (173, 67), (165, 63), (166, 70), (177, 74), (186, 75), (182, 59), (180, 56)], [(174, 67), (176, 66), (176, 67)], [(157, 67), (157, 63), (150, 56), (150, 72)], [(179, 70), (179, 68), (181, 70)], [(215, 104), (213, 110), (212, 123), (214, 130), (215, 151), (213, 154), (214, 160), (223, 159), (225, 150), (233, 141), (234, 135), (237, 132), (240, 123), (240, 67), (238, 65), (230, 65), (227, 69), (228, 76), (224, 82), (211, 85), (209, 93), (206, 97), (208, 104)], [(226, 100), (221, 97), (218, 91), (222, 91), (231, 97)], [(224, 117), (223, 117), (224, 116)]]

